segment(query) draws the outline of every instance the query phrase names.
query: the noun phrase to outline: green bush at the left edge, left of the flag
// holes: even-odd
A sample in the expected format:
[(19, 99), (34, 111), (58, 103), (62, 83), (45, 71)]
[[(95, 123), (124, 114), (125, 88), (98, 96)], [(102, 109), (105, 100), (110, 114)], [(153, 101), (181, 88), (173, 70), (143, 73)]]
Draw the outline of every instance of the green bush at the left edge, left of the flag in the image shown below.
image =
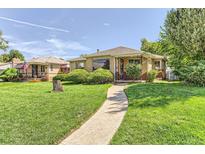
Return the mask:
[(7, 68), (0, 74), (3, 81), (15, 81), (18, 79), (18, 71), (15, 68)]

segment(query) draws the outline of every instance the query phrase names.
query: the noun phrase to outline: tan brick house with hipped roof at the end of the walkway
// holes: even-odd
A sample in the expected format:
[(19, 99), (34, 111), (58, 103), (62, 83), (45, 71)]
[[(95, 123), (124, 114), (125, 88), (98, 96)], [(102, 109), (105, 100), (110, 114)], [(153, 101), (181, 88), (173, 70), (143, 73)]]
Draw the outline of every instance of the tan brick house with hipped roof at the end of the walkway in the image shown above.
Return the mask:
[(166, 78), (166, 58), (127, 47), (117, 47), (69, 60), (70, 70), (85, 68), (93, 71), (97, 68), (109, 69), (115, 80), (128, 80), (126, 65), (128, 63), (141, 64), (140, 79), (147, 79), (147, 72), (152, 69), (159, 70), (158, 78)]

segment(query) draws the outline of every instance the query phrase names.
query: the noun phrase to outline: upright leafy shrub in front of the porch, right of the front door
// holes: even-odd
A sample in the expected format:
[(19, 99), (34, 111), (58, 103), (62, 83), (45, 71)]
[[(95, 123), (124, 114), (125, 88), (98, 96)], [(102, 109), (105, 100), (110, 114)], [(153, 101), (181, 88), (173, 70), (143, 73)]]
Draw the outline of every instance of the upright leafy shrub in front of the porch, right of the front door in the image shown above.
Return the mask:
[(132, 80), (139, 79), (141, 74), (141, 67), (138, 64), (127, 64), (126, 65), (126, 75)]

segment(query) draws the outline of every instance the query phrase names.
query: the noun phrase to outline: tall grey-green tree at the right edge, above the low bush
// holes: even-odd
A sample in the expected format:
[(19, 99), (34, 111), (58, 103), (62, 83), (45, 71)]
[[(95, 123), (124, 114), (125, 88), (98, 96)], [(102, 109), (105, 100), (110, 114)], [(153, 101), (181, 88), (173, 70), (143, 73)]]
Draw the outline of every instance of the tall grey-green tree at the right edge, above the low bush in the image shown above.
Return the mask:
[(205, 59), (204, 19), (205, 9), (172, 9), (168, 12), (161, 38), (175, 48), (167, 51), (175, 60), (174, 67)]

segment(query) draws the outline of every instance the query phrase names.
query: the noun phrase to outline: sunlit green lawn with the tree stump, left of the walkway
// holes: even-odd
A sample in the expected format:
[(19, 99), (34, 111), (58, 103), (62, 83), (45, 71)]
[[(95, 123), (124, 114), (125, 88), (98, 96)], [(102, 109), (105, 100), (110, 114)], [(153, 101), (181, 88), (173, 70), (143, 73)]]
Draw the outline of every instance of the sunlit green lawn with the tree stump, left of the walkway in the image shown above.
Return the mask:
[(0, 144), (57, 144), (106, 99), (106, 85), (0, 83)]

